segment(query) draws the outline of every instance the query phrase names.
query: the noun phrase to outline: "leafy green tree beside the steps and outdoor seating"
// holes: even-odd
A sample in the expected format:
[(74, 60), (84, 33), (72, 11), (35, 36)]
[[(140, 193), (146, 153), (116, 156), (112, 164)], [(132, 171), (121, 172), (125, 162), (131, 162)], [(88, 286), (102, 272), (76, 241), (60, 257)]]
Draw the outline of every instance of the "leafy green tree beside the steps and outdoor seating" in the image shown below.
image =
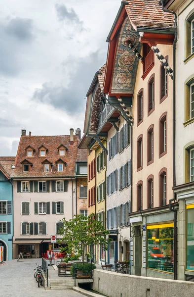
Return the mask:
[(69, 221), (64, 218), (62, 220), (63, 226), (59, 234), (63, 236), (60, 242), (65, 242), (66, 247), (64, 251), (67, 253), (74, 252), (78, 256), (82, 256), (84, 261), (84, 250), (91, 245), (103, 245), (104, 249), (108, 249), (108, 241), (106, 239), (109, 235), (102, 222), (95, 218), (95, 214), (91, 213), (88, 217), (74, 216)]

